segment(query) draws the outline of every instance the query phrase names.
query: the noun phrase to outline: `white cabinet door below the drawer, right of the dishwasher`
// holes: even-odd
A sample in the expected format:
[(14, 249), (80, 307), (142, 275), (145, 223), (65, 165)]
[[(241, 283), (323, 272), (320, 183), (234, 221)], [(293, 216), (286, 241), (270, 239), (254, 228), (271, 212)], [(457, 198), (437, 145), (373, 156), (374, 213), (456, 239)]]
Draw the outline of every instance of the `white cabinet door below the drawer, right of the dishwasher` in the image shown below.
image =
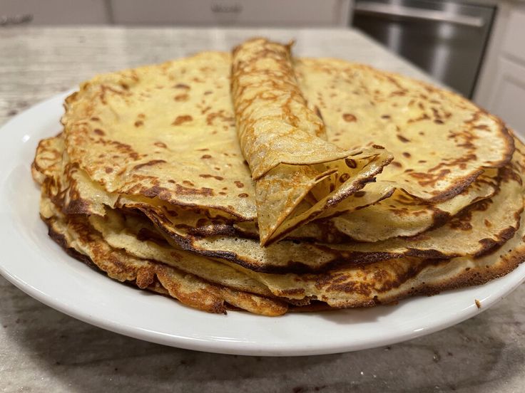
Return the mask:
[(525, 66), (500, 58), (489, 109), (525, 137)]

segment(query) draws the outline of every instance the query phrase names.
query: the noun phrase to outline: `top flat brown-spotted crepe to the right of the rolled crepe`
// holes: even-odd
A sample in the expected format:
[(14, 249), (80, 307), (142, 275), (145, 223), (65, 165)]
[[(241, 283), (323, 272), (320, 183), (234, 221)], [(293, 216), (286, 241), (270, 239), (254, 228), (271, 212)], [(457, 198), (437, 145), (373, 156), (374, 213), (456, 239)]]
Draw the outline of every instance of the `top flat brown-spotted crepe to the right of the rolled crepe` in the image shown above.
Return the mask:
[(347, 149), (382, 143), (394, 161), (377, 181), (419, 199), (449, 199), (514, 152), (501, 119), (447, 90), (337, 59), (299, 59), (295, 72), (328, 139)]

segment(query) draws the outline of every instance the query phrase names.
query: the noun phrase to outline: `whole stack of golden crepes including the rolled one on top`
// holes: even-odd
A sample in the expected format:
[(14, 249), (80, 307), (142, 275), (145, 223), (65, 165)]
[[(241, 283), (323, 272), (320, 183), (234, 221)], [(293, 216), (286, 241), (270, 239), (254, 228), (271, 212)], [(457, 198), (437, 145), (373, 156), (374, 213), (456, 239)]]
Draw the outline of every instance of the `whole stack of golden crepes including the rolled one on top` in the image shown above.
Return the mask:
[(33, 164), (51, 237), (213, 313), (391, 303), (524, 260), (525, 150), (501, 120), (290, 49), (255, 38), (83, 83)]

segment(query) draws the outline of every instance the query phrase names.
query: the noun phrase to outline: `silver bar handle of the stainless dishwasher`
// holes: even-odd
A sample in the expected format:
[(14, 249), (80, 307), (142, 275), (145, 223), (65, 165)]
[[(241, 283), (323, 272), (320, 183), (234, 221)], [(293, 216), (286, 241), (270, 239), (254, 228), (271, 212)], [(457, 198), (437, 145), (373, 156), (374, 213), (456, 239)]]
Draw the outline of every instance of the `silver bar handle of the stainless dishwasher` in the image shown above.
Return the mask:
[(380, 16), (397, 16), (399, 18), (420, 19), (424, 21), (437, 21), (454, 23), (461, 26), (481, 28), (485, 21), (477, 16), (452, 14), (447, 11), (434, 11), (429, 9), (415, 9), (396, 4), (382, 3), (357, 3), (354, 6), (356, 14), (374, 14)]

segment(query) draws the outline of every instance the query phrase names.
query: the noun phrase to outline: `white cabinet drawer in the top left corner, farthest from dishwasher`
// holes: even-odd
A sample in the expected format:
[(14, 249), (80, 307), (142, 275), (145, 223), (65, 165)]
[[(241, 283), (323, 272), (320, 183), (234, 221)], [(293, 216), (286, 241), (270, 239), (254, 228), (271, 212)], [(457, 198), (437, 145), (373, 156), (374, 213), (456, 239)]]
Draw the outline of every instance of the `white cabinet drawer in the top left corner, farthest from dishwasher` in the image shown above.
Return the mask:
[(0, 26), (109, 23), (105, 0), (1, 0)]

